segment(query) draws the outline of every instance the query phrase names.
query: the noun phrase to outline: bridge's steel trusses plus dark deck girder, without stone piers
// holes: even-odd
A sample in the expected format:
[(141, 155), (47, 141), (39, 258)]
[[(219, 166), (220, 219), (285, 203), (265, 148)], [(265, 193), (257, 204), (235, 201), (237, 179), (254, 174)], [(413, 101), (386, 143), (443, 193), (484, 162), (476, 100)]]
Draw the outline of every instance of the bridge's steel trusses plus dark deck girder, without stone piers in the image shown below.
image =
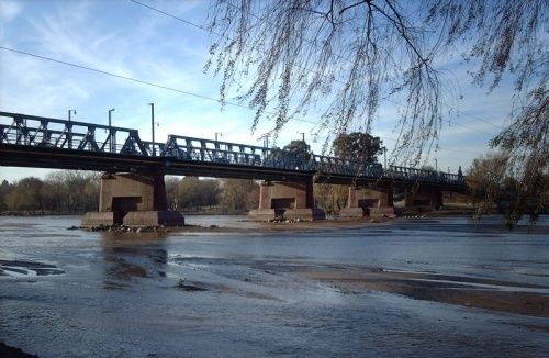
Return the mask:
[(464, 187), (461, 175), (303, 155), (278, 148), (169, 135), (147, 142), (137, 130), (0, 111), (0, 165), (110, 172), (161, 172), (340, 184)]

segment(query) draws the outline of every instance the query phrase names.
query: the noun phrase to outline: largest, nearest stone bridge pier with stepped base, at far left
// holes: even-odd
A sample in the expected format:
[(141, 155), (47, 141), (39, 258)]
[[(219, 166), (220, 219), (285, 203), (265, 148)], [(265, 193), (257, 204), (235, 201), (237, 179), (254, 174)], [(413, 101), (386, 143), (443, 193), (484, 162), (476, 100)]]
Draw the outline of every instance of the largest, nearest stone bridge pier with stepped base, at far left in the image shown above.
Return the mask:
[(99, 212), (87, 213), (82, 226), (178, 226), (183, 215), (168, 211), (164, 175), (104, 174)]

